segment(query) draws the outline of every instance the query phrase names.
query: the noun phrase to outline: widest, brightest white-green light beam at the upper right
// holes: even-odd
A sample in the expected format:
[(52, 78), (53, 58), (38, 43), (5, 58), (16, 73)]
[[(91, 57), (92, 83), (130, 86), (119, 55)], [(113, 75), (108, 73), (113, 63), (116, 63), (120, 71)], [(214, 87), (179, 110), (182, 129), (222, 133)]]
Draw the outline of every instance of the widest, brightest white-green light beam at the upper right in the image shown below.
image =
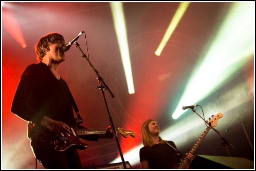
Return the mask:
[(210, 50), (195, 67), (172, 118), (185, 111), (182, 106), (196, 104), (232, 77), (254, 54), (255, 6), (233, 3)]

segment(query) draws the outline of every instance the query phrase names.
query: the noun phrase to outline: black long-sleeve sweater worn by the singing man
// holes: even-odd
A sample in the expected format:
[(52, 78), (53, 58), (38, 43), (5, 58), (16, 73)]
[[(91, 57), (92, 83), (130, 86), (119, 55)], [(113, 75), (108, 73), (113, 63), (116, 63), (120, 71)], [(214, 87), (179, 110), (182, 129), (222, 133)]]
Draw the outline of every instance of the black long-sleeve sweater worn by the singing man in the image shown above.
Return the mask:
[[(28, 121), (28, 138), (33, 138), (32, 125), (40, 126), (44, 116), (64, 123), (74, 119), (72, 98), (66, 82), (58, 80), (46, 64), (31, 64), (21, 75), (11, 112)], [(88, 138), (83, 137), (97, 141), (98, 135)]]

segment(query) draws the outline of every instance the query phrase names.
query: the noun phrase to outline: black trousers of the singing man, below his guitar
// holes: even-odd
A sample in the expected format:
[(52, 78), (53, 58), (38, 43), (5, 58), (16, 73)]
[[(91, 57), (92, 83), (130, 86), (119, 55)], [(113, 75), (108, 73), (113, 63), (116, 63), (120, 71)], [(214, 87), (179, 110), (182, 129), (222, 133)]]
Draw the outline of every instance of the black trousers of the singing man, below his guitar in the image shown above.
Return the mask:
[(82, 164), (77, 149), (56, 151), (39, 138), (31, 139), (31, 148), (37, 160), (48, 169), (81, 169)]

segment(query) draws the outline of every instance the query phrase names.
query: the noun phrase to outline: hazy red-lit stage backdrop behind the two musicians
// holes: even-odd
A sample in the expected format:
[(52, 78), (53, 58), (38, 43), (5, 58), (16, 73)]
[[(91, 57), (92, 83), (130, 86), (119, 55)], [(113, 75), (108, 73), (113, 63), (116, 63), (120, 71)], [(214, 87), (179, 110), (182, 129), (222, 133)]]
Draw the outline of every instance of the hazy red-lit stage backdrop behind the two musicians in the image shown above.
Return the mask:
[[(251, 3), (254, 6), (254, 14), (247, 19), (251, 18), (254, 27), (253, 31), (248, 33), (248, 37), (252, 38), (255, 37), (255, 3)], [(115, 95), (111, 98), (105, 91), (115, 127), (129, 129), (137, 134), (135, 138), (124, 138), (118, 134), (124, 159), (130, 162), (132, 168), (141, 168), (140, 129), (147, 119), (158, 121), (161, 128), (160, 136), (174, 141), (184, 157), (206, 126), (203, 120), (190, 109), (176, 120), (172, 119), (171, 115), (176, 107), (181, 109), (183, 105), (189, 106), (195, 103), (203, 107), (206, 118), (213, 112), (222, 112), (223, 117), (219, 119), (215, 128), (235, 146), (235, 150), (227, 146), (231, 157), (254, 161), (254, 51), (245, 61), (241, 59), (243, 65), (239, 67), (233, 65), (230, 76), (224, 79), (214, 91), (205, 94), (200, 101), (192, 101), (182, 106), (178, 103), (188, 80), (198, 67), (198, 62), (206, 56), (213, 40), (218, 37), (219, 28), (234, 4), (231, 2), (190, 3), (161, 56), (156, 56), (154, 52), (179, 2), (124, 2), (123, 11), (135, 88), (135, 93), (129, 94), (110, 3), (4, 3), (1, 28), (1, 168), (35, 168), (34, 155), (27, 138), (27, 122), (10, 111), (21, 73), (29, 64), (37, 63), (34, 45), (46, 33), (58, 32), (64, 36), (67, 43), (81, 31), (85, 31), (91, 63)], [(237, 23), (240, 26), (243, 24)], [(228, 34), (229, 30), (226, 31)], [(236, 39), (243, 42), (237, 34), (233, 34), (231, 42)], [(22, 47), (22, 40), (27, 47)], [(219, 40), (224, 42), (226, 39), (223, 37)], [(78, 42), (86, 52), (84, 34)], [(237, 46), (242, 46), (242, 43), (237, 43)], [(254, 47), (254, 43), (252, 46)], [(232, 48), (233, 51), (236, 49), (235, 46)], [(217, 54), (216, 52), (215, 55)], [(98, 85), (95, 73), (88, 66), (87, 61), (81, 58), (81, 52), (76, 46), (73, 45), (69, 51), (65, 52), (65, 56), (66, 60), (60, 65), (58, 72), (72, 91), (84, 119), (83, 125), (88, 128), (106, 128), (110, 124), (102, 95), (98, 89), (94, 89), (94, 86)], [(219, 67), (220, 65), (216, 65), (216, 71)], [(229, 71), (231, 69), (227, 67), (223, 74)], [(207, 71), (201, 72), (207, 74)], [(219, 78), (212, 79), (217, 82)], [(198, 85), (205, 81), (201, 79)], [(189, 96), (190, 92), (187, 95)], [(202, 114), (199, 107), (196, 107), (196, 111)], [(240, 122), (235, 116), (238, 116)], [(234, 122), (230, 130), (226, 132), (232, 121)], [(198, 124), (199, 126), (196, 127)], [(98, 142), (83, 142), (89, 145), (88, 149), (79, 151), (85, 167), (121, 162), (114, 138), (101, 139)], [(218, 134), (210, 130), (195, 151), (195, 155), (227, 157), (227, 150), (221, 146), (221, 142)], [(133, 149), (133, 153), (129, 153)], [(116, 158), (119, 161), (115, 160)], [(43, 168), (39, 163), (37, 167)]]

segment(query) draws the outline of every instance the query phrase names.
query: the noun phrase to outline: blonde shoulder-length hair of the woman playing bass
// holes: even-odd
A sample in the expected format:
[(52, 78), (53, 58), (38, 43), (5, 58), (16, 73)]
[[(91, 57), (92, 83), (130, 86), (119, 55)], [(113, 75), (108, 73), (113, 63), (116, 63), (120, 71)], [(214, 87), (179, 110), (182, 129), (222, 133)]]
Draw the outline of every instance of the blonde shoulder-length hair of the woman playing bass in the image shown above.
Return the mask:
[[(155, 120), (154, 119), (148, 119), (142, 124), (142, 127), (141, 127), (141, 135), (142, 135), (143, 145), (149, 146), (149, 147), (152, 147), (153, 145), (155, 145), (153, 137), (149, 132), (149, 123), (151, 121), (155, 121)], [(159, 141), (160, 141), (161, 144), (166, 142), (165, 140), (162, 140), (162, 138), (160, 136), (158, 136), (158, 137), (159, 137)]]

